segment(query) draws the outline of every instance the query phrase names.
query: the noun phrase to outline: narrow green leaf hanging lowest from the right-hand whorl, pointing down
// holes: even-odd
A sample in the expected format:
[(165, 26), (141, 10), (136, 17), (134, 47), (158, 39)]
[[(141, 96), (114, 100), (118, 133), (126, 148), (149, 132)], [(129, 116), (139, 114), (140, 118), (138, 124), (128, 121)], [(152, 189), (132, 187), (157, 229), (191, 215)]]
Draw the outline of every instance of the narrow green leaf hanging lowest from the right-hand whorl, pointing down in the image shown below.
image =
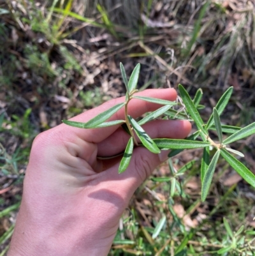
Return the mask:
[(212, 177), (214, 176), (214, 170), (219, 159), (219, 154), (220, 150), (218, 149), (217, 152), (214, 154), (214, 157), (212, 158), (212, 162), (210, 162), (208, 166), (207, 172), (205, 172), (205, 177), (203, 178), (201, 189), (201, 200), (203, 202), (207, 198), (210, 184), (212, 183)]

